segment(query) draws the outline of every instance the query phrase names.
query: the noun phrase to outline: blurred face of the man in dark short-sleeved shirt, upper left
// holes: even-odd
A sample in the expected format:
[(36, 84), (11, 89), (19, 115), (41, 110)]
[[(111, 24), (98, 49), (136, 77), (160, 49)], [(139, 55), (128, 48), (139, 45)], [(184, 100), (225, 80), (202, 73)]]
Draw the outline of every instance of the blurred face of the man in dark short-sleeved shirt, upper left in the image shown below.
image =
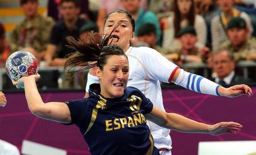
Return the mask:
[(60, 12), (64, 20), (72, 21), (74, 19), (77, 19), (80, 8), (76, 7), (74, 2), (63, 2), (61, 4)]

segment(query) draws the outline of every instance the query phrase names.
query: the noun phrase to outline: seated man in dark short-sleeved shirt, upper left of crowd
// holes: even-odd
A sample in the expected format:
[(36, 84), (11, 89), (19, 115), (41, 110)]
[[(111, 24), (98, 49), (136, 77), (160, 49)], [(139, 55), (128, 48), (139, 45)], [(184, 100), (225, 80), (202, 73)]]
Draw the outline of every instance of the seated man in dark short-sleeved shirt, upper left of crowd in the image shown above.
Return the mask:
[(62, 0), (60, 12), (62, 20), (57, 22), (51, 30), (50, 41), (46, 51), (46, 64), (64, 66), (65, 56), (74, 50), (68, 48), (66, 37), (79, 38), (79, 29), (89, 20), (80, 19), (79, 3), (76, 0)]

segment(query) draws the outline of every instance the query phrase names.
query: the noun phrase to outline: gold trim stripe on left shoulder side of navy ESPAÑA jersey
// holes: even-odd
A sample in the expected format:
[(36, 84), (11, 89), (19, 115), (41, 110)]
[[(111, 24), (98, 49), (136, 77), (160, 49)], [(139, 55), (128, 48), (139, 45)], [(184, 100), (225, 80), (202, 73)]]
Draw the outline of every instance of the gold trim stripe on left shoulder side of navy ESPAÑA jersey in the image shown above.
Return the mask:
[(90, 130), (90, 128), (92, 128), (92, 126), (97, 118), (98, 109), (105, 109), (105, 106), (106, 106), (106, 99), (104, 99), (100, 96), (100, 100), (97, 102), (96, 108), (93, 108), (90, 124), (88, 125), (87, 130), (85, 133), (83, 133), (83, 135), (85, 135)]

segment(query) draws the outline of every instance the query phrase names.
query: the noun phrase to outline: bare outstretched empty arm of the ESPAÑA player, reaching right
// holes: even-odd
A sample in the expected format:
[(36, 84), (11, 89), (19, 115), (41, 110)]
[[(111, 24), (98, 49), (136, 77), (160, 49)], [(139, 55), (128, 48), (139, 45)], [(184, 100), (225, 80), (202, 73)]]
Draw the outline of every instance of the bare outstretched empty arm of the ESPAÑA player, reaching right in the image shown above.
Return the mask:
[(153, 110), (146, 115), (146, 118), (161, 127), (187, 133), (220, 135), (223, 133), (236, 133), (242, 128), (242, 125), (236, 122), (220, 122), (213, 125), (203, 124), (179, 114), (163, 112), (157, 107), (153, 107)]

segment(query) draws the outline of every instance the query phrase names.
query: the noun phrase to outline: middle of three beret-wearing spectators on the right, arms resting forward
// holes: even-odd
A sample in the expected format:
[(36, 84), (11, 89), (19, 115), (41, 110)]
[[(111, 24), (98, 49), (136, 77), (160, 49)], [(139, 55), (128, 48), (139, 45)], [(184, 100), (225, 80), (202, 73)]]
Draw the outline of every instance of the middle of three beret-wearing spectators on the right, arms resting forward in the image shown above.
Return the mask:
[(202, 52), (209, 52), (207, 47), (197, 48), (197, 32), (194, 27), (182, 28), (178, 33), (181, 49), (174, 50), (171, 54), (164, 54), (169, 61), (184, 64), (187, 62), (203, 62)]

